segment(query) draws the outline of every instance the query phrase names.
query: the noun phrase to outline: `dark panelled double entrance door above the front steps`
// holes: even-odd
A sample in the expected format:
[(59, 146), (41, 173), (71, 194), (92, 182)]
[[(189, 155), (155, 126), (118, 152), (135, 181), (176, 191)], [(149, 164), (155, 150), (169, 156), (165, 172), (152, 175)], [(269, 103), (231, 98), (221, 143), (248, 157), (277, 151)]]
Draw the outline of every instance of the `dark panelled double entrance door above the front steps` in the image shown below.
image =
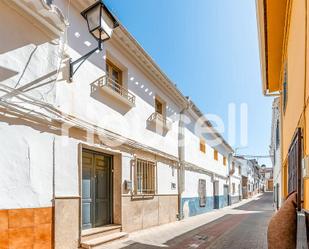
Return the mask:
[(112, 156), (83, 150), (82, 229), (112, 223)]

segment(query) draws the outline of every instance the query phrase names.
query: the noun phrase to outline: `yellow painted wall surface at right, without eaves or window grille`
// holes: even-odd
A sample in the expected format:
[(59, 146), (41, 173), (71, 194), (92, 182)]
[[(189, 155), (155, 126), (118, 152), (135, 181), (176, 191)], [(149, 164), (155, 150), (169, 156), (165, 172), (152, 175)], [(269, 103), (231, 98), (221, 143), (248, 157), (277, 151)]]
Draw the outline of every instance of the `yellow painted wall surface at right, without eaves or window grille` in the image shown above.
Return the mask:
[[(309, 63), (306, 63), (305, 58), (307, 56), (307, 60), (309, 60), (308, 49), (306, 55), (305, 46), (307, 41), (309, 47), (309, 41), (306, 39), (306, 1), (309, 5), (309, 0), (292, 1), (289, 19), (290, 27), (286, 51), (288, 100), (285, 112), (282, 96), (280, 99), (282, 107), (282, 162), (287, 161), (289, 146), (297, 127), (303, 128), (304, 156), (309, 155), (309, 144), (307, 145), (309, 143), (309, 108), (306, 107), (309, 97)], [(309, 12), (307, 16), (309, 16)], [(309, 33), (308, 25), (307, 32)], [(282, 163), (282, 165), (284, 164)], [(283, 197), (286, 197), (288, 166), (283, 166), (282, 172), (282, 194)], [(304, 208), (309, 210), (309, 180), (304, 181)]]

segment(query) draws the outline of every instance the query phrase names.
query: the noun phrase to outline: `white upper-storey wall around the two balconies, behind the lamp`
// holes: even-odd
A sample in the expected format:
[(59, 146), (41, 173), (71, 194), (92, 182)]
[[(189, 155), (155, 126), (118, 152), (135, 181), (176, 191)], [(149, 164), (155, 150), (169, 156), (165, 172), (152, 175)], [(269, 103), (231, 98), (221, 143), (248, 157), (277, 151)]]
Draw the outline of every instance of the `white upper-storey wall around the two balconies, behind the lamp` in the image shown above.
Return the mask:
[[(62, 6), (63, 5), (63, 6)], [(66, 13), (67, 5), (59, 1), (59, 7)], [(77, 35), (78, 33), (78, 35)], [(88, 47), (85, 42), (90, 42)], [(70, 7), (70, 27), (68, 29), (68, 49), (70, 57), (77, 59), (96, 46), (89, 34), (86, 22), (72, 5)], [(105, 58), (109, 57), (123, 69), (124, 85), (136, 96), (136, 105), (127, 108), (112, 97), (101, 94), (91, 95), (90, 84), (105, 75)], [(177, 133), (178, 113), (176, 103), (159, 89), (147, 73), (137, 66), (136, 61), (127, 56), (125, 49), (115, 46), (113, 39), (104, 43), (104, 49), (93, 54), (74, 75), (73, 82), (65, 79), (57, 84), (57, 104), (66, 113), (87, 120), (89, 123), (108, 129), (124, 137), (133, 139), (165, 153), (178, 156)], [(148, 129), (147, 119), (155, 111), (154, 96), (158, 95), (166, 102), (167, 117), (173, 121), (172, 130), (161, 135)]]

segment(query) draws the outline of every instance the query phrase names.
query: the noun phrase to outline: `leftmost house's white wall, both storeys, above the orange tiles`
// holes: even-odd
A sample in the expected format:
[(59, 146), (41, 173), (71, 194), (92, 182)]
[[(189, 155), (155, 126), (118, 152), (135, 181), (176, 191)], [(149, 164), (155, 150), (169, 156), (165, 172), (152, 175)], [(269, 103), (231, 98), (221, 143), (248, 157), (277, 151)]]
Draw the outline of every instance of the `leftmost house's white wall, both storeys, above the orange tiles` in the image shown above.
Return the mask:
[(52, 205), (53, 135), (42, 115), (22, 109), (43, 108), (20, 93), (54, 103), (61, 37), (23, 14), (0, 2), (0, 209)]

